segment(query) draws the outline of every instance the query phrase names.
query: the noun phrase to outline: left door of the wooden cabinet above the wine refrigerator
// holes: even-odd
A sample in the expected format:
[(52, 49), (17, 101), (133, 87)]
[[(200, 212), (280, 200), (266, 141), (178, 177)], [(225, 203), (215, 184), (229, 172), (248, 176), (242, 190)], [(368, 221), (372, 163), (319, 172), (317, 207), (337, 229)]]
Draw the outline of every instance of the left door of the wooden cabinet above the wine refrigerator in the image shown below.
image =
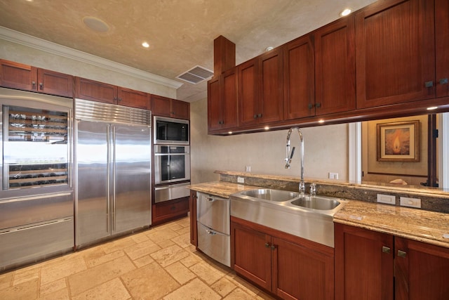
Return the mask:
[(36, 91), (37, 70), (30, 65), (0, 60), (0, 86)]

